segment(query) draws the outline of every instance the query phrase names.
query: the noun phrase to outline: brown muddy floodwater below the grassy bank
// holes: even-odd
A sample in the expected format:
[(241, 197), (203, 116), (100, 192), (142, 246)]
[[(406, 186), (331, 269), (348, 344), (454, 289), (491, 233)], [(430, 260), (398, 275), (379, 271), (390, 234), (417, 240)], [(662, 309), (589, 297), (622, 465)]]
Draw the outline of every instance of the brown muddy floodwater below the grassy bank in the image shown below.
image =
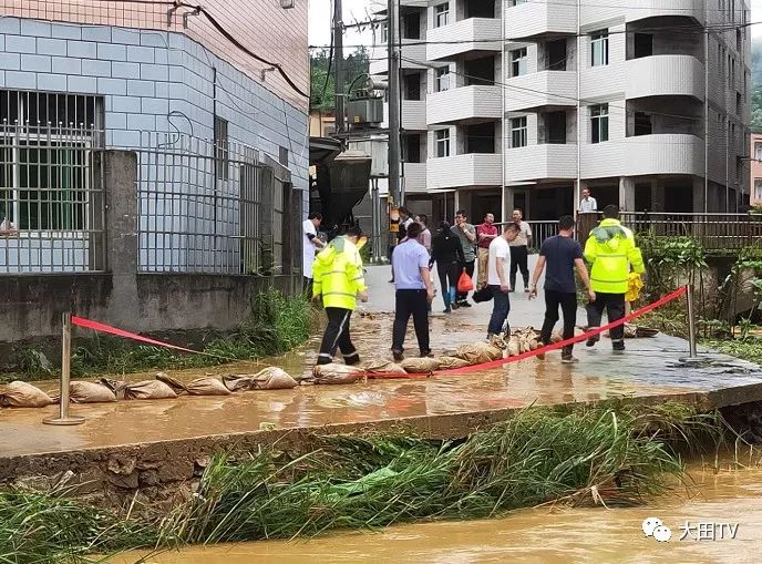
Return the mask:
[[(689, 476), (688, 491), (677, 488), (641, 507), (540, 507), (487, 521), (400, 525), (379, 533), (342, 533), (309, 541), (188, 547), (143, 562), (759, 563), (762, 469), (715, 471), (692, 465)], [(671, 540), (660, 543), (645, 536), (641, 527), (647, 517), (661, 520), (671, 530)], [(142, 556), (145, 553), (133, 553), (112, 562), (133, 564)]]

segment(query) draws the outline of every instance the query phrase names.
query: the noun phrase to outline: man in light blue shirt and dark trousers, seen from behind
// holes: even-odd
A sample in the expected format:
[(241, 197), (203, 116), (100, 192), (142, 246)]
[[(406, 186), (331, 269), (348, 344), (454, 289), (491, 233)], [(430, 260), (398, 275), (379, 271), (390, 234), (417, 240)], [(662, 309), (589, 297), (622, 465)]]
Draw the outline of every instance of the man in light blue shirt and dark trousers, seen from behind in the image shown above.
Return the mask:
[(408, 237), (392, 255), (397, 305), (392, 330), (392, 355), (395, 361), (403, 360), (403, 343), (410, 316), (413, 316), (415, 337), (422, 357), (431, 355), (429, 347), (429, 304), (434, 299), (434, 288), (429, 271), (429, 252), (419, 243), (423, 230), (420, 223), (408, 226)]

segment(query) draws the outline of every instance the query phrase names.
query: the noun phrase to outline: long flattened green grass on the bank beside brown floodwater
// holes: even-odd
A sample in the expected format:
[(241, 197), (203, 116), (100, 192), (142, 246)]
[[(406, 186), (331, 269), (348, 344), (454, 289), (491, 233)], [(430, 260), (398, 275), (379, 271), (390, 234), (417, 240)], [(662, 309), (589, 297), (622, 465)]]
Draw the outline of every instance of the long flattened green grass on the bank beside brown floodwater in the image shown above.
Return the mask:
[(680, 476), (681, 448), (722, 435), (682, 404), (527, 408), (460, 441), (315, 437), (246, 460), (217, 455), (197, 492), (163, 517), (117, 515), (65, 492), (0, 491), (0, 562), (79, 563), (86, 554), (184, 543), (312, 536), (426, 520), (478, 519), (544, 503), (631, 505)]

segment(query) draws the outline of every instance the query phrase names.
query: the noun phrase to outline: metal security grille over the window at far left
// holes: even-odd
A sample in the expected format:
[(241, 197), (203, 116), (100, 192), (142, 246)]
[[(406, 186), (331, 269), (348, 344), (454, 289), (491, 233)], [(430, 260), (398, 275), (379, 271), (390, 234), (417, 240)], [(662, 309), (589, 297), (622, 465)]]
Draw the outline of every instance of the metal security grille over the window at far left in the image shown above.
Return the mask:
[(103, 139), (94, 125), (0, 122), (0, 275), (106, 269)]

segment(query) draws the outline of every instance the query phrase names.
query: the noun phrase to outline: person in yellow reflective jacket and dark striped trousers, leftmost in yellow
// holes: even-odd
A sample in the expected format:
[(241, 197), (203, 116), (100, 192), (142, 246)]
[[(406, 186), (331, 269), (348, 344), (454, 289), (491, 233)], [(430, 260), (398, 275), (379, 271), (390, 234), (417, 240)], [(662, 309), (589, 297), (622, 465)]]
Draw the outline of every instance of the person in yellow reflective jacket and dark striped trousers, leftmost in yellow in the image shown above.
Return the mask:
[(362, 230), (351, 227), (346, 235), (334, 238), (315, 259), (312, 268), (313, 299), (322, 300), (328, 325), (322, 336), (318, 365), (330, 365), (337, 349), (347, 365), (359, 365), (358, 353), (349, 335), (350, 318), (357, 298), (368, 301), (360, 257)]

